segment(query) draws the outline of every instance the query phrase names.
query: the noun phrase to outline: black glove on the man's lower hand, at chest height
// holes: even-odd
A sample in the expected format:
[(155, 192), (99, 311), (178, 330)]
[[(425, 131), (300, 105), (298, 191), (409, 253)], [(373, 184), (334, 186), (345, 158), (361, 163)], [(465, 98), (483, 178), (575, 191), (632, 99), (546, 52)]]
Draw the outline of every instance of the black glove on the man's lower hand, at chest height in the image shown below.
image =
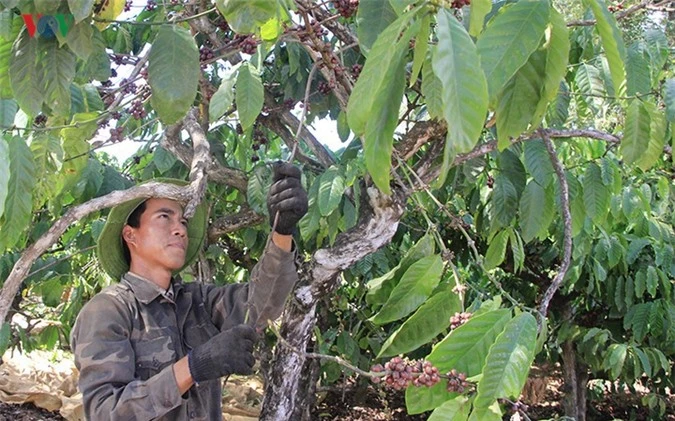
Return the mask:
[(194, 348), (188, 354), (192, 379), (199, 383), (228, 374), (251, 374), (256, 339), (253, 327), (242, 324), (220, 332)]

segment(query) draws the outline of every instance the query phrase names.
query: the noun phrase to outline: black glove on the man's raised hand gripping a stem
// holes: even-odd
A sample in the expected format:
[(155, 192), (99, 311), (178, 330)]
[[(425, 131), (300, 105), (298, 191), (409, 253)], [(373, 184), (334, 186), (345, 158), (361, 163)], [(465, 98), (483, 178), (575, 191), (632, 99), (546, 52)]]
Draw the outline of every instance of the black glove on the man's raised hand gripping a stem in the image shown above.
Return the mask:
[(282, 235), (291, 235), (300, 218), (307, 213), (307, 193), (300, 183), (302, 173), (287, 162), (278, 161), (272, 165), (274, 179), (267, 194), (270, 224), (274, 225), (278, 211), (279, 220), (274, 230)]

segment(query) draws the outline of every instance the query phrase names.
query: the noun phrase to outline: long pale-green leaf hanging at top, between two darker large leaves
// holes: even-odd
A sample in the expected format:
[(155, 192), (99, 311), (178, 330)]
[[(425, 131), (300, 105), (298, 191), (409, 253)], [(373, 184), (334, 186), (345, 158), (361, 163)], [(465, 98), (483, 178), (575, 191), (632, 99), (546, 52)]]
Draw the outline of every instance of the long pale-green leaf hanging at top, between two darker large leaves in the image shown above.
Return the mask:
[(438, 44), (433, 50), (434, 73), (443, 85), (443, 117), (448, 123), (439, 184), (445, 180), (451, 159), (469, 152), (478, 142), (487, 114), (487, 81), (480, 68), (476, 46), (464, 27), (447, 9), (437, 16)]

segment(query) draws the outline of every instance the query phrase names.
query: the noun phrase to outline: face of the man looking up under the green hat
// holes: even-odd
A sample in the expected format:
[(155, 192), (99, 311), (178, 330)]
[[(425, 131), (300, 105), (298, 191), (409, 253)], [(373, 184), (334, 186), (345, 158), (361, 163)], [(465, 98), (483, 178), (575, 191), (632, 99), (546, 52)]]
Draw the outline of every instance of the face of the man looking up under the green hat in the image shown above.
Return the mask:
[(122, 235), (131, 253), (132, 270), (173, 272), (185, 264), (187, 220), (182, 207), (173, 200), (148, 199), (140, 226), (126, 225)]

